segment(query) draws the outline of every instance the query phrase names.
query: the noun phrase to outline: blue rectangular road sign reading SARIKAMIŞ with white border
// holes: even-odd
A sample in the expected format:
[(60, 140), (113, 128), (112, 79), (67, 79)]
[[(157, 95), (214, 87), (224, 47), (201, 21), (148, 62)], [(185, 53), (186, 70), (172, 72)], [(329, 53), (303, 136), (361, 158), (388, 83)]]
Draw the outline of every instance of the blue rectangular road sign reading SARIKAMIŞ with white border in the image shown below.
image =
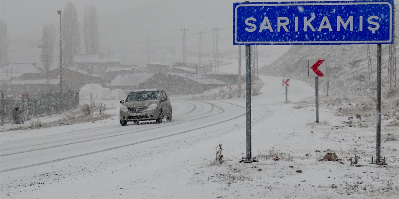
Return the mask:
[(233, 45), (393, 43), (393, 0), (233, 3)]

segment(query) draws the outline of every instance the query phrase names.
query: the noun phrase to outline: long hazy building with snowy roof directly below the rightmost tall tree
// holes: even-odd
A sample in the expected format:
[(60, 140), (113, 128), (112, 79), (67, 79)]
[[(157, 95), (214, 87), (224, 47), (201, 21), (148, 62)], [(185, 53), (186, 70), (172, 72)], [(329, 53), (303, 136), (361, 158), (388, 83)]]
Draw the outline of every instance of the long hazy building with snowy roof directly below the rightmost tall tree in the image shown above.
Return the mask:
[(120, 65), (119, 55), (73, 55), (73, 64), (80, 70), (89, 73), (105, 75), (105, 71), (110, 67)]

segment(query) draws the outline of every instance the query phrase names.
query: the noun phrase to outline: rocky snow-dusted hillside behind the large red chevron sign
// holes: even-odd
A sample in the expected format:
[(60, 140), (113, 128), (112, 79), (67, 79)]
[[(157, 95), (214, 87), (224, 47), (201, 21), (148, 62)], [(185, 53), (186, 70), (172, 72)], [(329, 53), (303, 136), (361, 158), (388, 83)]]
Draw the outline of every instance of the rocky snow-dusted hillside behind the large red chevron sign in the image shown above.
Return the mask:
[[(395, 2), (397, 4), (397, 2)], [(396, 16), (399, 14), (395, 13)], [(396, 18), (397, 19), (397, 18)], [(399, 38), (399, 20), (395, 20), (395, 37)], [(261, 74), (296, 78), (314, 85), (314, 78), (308, 77), (308, 60), (325, 59), (327, 76), (319, 78), (319, 89), (326, 92), (327, 79), (330, 80), (330, 93), (337, 95), (354, 94), (352, 96), (369, 96), (375, 93), (377, 45), (369, 45), (371, 57), (369, 82), (369, 66), (367, 63), (367, 45), (294, 45), (272, 64), (264, 65)], [(396, 41), (396, 68), (399, 69), (399, 42)], [(389, 45), (382, 45), (382, 94), (387, 96)], [(314, 62), (309, 62), (309, 67)], [(312, 71), (310, 71), (312, 72)], [(399, 70), (397, 70), (399, 74)], [(399, 86), (399, 78), (397, 83)], [(395, 94), (394, 96), (398, 96)], [(350, 96), (349, 96), (350, 97)], [(351, 97), (350, 97), (351, 98)]]

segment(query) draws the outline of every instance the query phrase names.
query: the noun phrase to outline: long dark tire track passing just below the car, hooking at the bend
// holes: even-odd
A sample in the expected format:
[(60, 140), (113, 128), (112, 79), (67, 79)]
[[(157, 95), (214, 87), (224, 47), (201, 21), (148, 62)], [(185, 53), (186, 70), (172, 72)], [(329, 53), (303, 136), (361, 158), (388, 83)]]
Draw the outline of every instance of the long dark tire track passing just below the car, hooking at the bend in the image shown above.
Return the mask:
[[(209, 102), (205, 102), (205, 103), (209, 103)], [(217, 107), (217, 108), (219, 108), (221, 110), (221, 112), (215, 113), (213, 115), (218, 115), (218, 114), (221, 114), (221, 113), (223, 113), (225, 111), (224, 109), (214, 105), (213, 103), (209, 103), (209, 104), (212, 105), (211, 111), (214, 109), (214, 107)], [(209, 113), (211, 111), (208, 111), (207, 113)], [(203, 114), (200, 114), (200, 115), (203, 115)], [(89, 141), (94, 141), (94, 140), (100, 140), (100, 139), (106, 139), (106, 138), (117, 137), (117, 136), (122, 136), (122, 135), (128, 135), (128, 134), (132, 134), (132, 133), (139, 133), (139, 132), (143, 132), (143, 131), (149, 131), (149, 130), (152, 130), (152, 129), (159, 129), (159, 128), (162, 128), (162, 127), (178, 125), (178, 124), (181, 124), (181, 123), (185, 123), (185, 122), (189, 122), (189, 121), (193, 121), (193, 120), (197, 120), (197, 119), (203, 119), (203, 118), (206, 118), (206, 117), (211, 117), (213, 115), (207, 115), (207, 116), (199, 117), (199, 118), (196, 118), (196, 119), (190, 119), (190, 120), (187, 120), (187, 121), (184, 121), (184, 122), (180, 122), (180, 123), (173, 123), (173, 124), (170, 124), (170, 125), (162, 125), (160, 127), (143, 129), (143, 130), (140, 130), (140, 131), (134, 131), (134, 132), (122, 133), (122, 134), (118, 134), (118, 135), (110, 135), (110, 136), (107, 136), (107, 137), (100, 137), (100, 138), (95, 138), (95, 139), (82, 140), (82, 141), (78, 141), (78, 142), (71, 142), (71, 143), (67, 143), (67, 144), (59, 144), (59, 145), (48, 146), (48, 147), (43, 147), (43, 148), (36, 148), (36, 149), (25, 150), (25, 151), (20, 151), (20, 152), (2, 154), (2, 155), (0, 155), (0, 157), (2, 157), (2, 156), (10, 156), (10, 155), (15, 155), (15, 154), (21, 154), (21, 153), (26, 153), (26, 152), (32, 152), (32, 151), (37, 151), (37, 150), (44, 150), (44, 149), (49, 149), (49, 148), (55, 148), (55, 147), (60, 147), (60, 146), (67, 146), (67, 145), (71, 145), (71, 144), (79, 144), (79, 143), (83, 143), (83, 142), (89, 142)], [(145, 127), (143, 127), (143, 128), (145, 128)], [(103, 135), (120, 133), (120, 132), (123, 132), (123, 131), (118, 131), (118, 132), (113, 132), (113, 133), (105, 133)], [(93, 136), (89, 136), (89, 137), (95, 137), (95, 136), (98, 136), (98, 135), (93, 135)], [(87, 138), (87, 137), (83, 137), (83, 138)], [(76, 139), (82, 139), (82, 138), (76, 138)], [(71, 139), (71, 140), (75, 140), (75, 139)], [(65, 141), (65, 140), (61, 140), (61, 141), (57, 141), (57, 142), (62, 142), (62, 141)], [(55, 142), (49, 142), (49, 143), (45, 143), (45, 144), (51, 144), (51, 143), (55, 143)], [(43, 144), (37, 144), (37, 145), (43, 145)], [(33, 146), (37, 146), (37, 145), (33, 145)], [(26, 147), (26, 146), (23, 146), (23, 147), (20, 147), (20, 148), (24, 148), (24, 147)]]

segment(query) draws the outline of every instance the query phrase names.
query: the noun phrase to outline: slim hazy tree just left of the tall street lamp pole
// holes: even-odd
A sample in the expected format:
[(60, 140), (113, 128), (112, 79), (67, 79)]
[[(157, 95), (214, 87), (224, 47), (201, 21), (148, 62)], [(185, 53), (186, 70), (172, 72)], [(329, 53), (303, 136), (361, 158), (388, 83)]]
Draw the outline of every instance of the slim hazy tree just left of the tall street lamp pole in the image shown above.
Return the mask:
[(41, 61), (43, 62), (43, 66), (48, 78), (48, 72), (51, 68), (51, 64), (53, 63), (54, 56), (54, 44), (55, 44), (55, 26), (53, 23), (49, 23), (47, 25), (43, 25), (43, 33), (42, 33), (42, 49), (41, 49)]

